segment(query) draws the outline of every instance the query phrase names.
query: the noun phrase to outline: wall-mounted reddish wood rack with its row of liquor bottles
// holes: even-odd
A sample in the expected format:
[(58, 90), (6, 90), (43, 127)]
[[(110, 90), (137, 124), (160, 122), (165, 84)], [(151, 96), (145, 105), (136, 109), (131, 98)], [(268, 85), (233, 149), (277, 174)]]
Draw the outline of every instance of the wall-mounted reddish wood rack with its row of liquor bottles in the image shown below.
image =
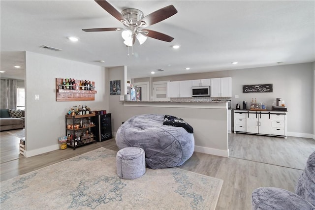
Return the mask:
[(94, 101), (95, 82), (56, 78), (56, 101)]

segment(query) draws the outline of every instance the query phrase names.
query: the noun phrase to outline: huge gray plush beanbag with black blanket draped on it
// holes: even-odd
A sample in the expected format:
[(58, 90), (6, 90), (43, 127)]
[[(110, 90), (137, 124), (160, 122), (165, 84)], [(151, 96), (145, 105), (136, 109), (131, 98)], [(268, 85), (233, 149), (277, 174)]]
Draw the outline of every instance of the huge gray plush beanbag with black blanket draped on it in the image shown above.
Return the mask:
[(142, 148), (146, 165), (152, 169), (182, 165), (193, 153), (193, 134), (183, 127), (163, 125), (163, 120), (164, 115), (156, 114), (126, 120), (116, 134), (118, 148)]

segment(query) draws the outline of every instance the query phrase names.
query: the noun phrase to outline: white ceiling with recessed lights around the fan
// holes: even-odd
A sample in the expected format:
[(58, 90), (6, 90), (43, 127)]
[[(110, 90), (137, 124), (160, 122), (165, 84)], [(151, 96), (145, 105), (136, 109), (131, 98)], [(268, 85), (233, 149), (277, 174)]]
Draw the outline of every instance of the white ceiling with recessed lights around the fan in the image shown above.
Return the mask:
[[(23, 51), (104, 67), (126, 65), (128, 78), (315, 61), (314, 0), (109, 2), (119, 11), (137, 8), (144, 15), (173, 4), (178, 13), (148, 29), (175, 39), (168, 43), (149, 37), (143, 45), (136, 42), (134, 56), (127, 57), (120, 31), (82, 31), (124, 27), (94, 0), (1, 0), (1, 70), (7, 71), (1, 77), (23, 79), (16, 73), (24, 71)], [(71, 35), (79, 41), (70, 42), (66, 37)], [(174, 50), (174, 44), (181, 48)], [(39, 48), (42, 45), (62, 51)], [(16, 64), (22, 68), (13, 69)], [(10, 75), (12, 71), (15, 75)]]

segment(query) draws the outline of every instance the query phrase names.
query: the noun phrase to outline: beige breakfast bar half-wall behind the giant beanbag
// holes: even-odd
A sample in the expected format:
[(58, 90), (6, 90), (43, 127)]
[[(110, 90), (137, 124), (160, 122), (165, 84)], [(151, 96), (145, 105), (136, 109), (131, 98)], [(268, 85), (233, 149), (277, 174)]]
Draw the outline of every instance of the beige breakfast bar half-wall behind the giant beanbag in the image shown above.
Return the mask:
[(193, 127), (196, 152), (229, 156), (226, 101), (122, 101), (124, 119), (135, 115), (162, 114), (182, 118)]

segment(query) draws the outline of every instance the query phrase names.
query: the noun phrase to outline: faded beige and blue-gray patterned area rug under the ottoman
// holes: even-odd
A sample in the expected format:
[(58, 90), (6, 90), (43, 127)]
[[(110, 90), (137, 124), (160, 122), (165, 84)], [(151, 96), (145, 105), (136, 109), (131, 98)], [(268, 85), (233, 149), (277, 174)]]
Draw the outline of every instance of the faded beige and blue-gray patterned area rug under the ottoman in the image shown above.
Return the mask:
[[(64, 150), (66, 152), (66, 150)], [(99, 148), (2, 181), (1, 209), (214, 210), (223, 180), (179, 168), (116, 174), (116, 151)]]

